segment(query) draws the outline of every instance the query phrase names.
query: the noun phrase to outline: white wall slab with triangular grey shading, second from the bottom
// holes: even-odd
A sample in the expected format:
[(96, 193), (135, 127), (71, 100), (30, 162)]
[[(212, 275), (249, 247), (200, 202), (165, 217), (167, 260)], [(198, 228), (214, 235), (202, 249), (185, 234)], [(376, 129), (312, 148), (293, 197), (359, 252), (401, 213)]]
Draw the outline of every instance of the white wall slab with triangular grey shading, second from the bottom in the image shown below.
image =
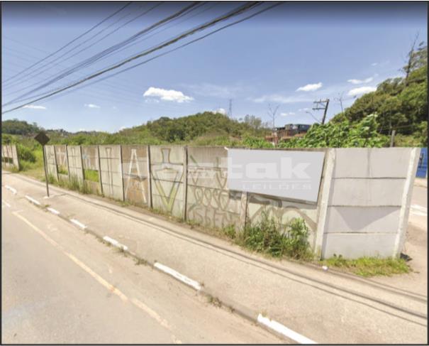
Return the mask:
[(396, 233), (401, 207), (328, 207), (327, 233)]

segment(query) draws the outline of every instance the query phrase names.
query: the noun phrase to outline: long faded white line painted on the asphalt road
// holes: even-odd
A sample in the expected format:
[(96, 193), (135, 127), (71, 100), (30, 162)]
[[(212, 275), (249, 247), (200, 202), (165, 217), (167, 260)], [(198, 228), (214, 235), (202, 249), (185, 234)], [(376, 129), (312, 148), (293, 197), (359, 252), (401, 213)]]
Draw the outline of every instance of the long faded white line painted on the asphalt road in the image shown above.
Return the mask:
[[(77, 264), (80, 268), (82, 268), (89, 275), (91, 275), (96, 281), (98, 281), (99, 283), (101, 283), (101, 285), (103, 285), (104, 287), (106, 287), (108, 289), (108, 291), (111, 291), (112, 293), (116, 294), (116, 296), (118, 296), (119, 298), (121, 298), (121, 300), (124, 303), (127, 303), (129, 301), (128, 297), (123, 292), (121, 292), (120, 290), (118, 290), (118, 288), (116, 288), (115, 286), (113, 286), (111, 283), (108, 283), (108, 281), (106, 281), (101, 276), (99, 276), (99, 274), (96, 274), (95, 271), (93, 271), (91, 268), (89, 268), (89, 266), (87, 266), (82, 261), (80, 261), (79, 259), (77, 259), (76, 256), (74, 256), (73, 254), (70, 254), (69, 252), (65, 251), (65, 249), (60, 244), (58, 244), (57, 242), (55, 242), (55, 240), (53, 240), (52, 238), (50, 238), (48, 236), (48, 234), (45, 234), (45, 232), (43, 232), (38, 227), (36, 227), (35, 225), (33, 225), (25, 217), (19, 215), (17, 211), (16, 212), (12, 212), (12, 214), (15, 215), (16, 217), (20, 218), (21, 220), (23, 220), (23, 222), (26, 222), (26, 224), (28, 226), (30, 226), (31, 228), (33, 228), (35, 230), (35, 232), (38, 232), (38, 234), (40, 234), (40, 236), (42, 236), (47, 242), (49, 242), (50, 244), (52, 244), (55, 248), (59, 249), (63, 254), (65, 254), (67, 257), (69, 257), (69, 259), (71, 259), (72, 261), (74, 261), (75, 264)], [(172, 328), (169, 326), (167, 320), (164, 320), (160, 315), (158, 315), (154, 310), (152, 310), (151, 308), (149, 308), (148, 306), (146, 306), (143, 302), (139, 301), (136, 298), (131, 298), (130, 301), (135, 306), (137, 306), (141, 310), (145, 311), (145, 313), (147, 313), (148, 315), (150, 315), (151, 318), (155, 319), (157, 321), (157, 323), (160, 323), (160, 325), (162, 325), (163, 327), (169, 329), (170, 331), (172, 330)], [(172, 335), (172, 340), (176, 344), (181, 344), (182, 343), (179, 339), (177, 339), (177, 337), (175, 337), (175, 335)]]

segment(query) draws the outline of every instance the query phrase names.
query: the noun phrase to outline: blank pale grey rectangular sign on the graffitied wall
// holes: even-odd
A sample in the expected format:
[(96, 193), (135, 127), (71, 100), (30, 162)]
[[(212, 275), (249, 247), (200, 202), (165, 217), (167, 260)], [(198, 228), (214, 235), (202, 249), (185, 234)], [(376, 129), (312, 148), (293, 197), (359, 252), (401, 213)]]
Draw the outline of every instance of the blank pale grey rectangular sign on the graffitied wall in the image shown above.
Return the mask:
[(317, 202), (323, 151), (228, 149), (228, 188)]

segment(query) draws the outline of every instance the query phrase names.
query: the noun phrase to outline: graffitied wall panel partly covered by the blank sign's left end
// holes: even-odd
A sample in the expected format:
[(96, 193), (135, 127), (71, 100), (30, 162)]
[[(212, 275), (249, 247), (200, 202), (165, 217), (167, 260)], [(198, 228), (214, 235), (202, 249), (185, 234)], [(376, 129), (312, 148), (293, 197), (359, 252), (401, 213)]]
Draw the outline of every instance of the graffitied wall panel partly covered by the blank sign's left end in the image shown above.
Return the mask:
[(227, 188), (225, 148), (188, 148), (186, 216), (208, 227), (240, 224), (240, 191)]

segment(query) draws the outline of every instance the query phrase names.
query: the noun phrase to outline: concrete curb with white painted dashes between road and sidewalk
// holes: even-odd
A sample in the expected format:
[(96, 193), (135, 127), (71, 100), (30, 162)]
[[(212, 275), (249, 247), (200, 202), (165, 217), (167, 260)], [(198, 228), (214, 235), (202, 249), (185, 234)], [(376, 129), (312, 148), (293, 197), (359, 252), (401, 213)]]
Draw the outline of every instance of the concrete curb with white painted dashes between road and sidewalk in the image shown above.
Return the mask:
[[(116, 241), (116, 239), (112, 239), (108, 236), (102, 237), (94, 231), (94, 229), (91, 229), (90, 227), (87, 227), (87, 225), (82, 224), (82, 222), (79, 222), (77, 219), (69, 219), (61, 214), (61, 212), (51, 208), (46, 207), (45, 205), (42, 205), (40, 202), (35, 200), (34, 198), (31, 198), (30, 196), (26, 195), (26, 199), (28, 202), (31, 202), (35, 207), (38, 207), (41, 210), (44, 210), (46, 212), (50, 212), (53, 215), (56, 215), (57, 217), (60, 217), (62, 220), (67, 221), (69, 224), (73, 225), (74, 227), (77, 227), (78, 229), (84, 231), (85, 233), (89, 233), (96, 237), (100, 242), (104, 244), (108, 244), (108, 246), (114, 246), (118, 247), (118, 249), (121, 250), (121, 252), (126, 253), (127, 255), (133, 257), (133, 259), (137, 261), (143, 261), (143, 264), (146, 266), (150, 266), (152, 269), (155, 269), (156, 271), (159, 271), (162, 274), (165, 274), (169, 277), (172, 277), (173, 279), (179, 281), (180, 283), (191, 287), (196, 291), (197, 294), (200, 296), (206, 297), (210, 301), (215, 301), (216, 304), (221, 307), (228, 310), (230, 313), (235, 313), (239, 315), (242, 318), (245, 318), (246, 320), (250, 321), (251, 323), (255, 323), (255, 325), (259, 325), (261, 328), (264, 328), (265, 330), (269, 331), (270, 333), (276, 335), (277, 337), (282, 337), (284, 340), (294, 340), (294, 342), (298, 342), (300, 344), (310, 345), (310, 344), (316, 344), (317, 342), (314, 342), (313, 340), (308, 339), (307, 337), (304, 337), (303, 335), (300, 335), (299, 333), (294, 332), (293, 330), (290, 330), (286, 326), (282, 325), (281, 323), (278, 323), (275, 320), (271, 320), (264, 316), (263, 313), (257, 313), (254, 310), (247, 308), (245, 306), (242, 306), (239, 303), (236, 303), (235, 301), (230, 301), (225, 298), (219, 298), (216, 293), (211, 291), (209, 288), (206, 288), (203, 283), (199, 283), (198, 281), (194, 281), (193, 279), (189, 279), (187, 276), (184, 276), (183, 274), (178, 273), (177, 271), (174, 271), (174, 269), (170, 269), (169, 267), (160, 264), (160, 262), (151, 262), (147, 261), (146, 259), (143, 259), (141, 256), (138, 256), (138, 254), (135, 254), (135, 252), (131, 252), (128, 247), (126, 247), (123, 244), (120, 244)], [(165, 268), (170, 269), (172, 272), (176, 272), (179, 275), (174, 275), (172, 272), (167, 271)], [(182, 276), (182, 279), (180, 278)], [(184, 279), (186, 278), (186, 279)]]

